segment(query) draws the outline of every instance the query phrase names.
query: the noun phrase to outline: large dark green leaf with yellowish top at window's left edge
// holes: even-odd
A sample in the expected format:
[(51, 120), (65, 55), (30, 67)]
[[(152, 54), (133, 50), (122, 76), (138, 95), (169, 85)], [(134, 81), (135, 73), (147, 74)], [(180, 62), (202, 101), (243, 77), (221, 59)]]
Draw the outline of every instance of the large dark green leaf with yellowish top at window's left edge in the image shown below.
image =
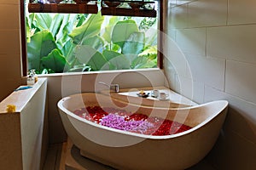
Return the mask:
[(31, 37), (27, 43), (28, 69), (41, 70), (41, 58), (47, 56), (53, 49), (57, 48), (54, 38), (49, 31), (40, 31)]

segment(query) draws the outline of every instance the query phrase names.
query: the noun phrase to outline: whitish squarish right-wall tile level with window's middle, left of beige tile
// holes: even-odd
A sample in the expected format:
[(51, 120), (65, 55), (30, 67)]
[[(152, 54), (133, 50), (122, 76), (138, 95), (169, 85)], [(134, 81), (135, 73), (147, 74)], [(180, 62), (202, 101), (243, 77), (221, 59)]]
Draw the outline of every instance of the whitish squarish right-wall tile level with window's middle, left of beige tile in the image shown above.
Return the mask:
[(183, 53), (206, 55), (206, 28), (177, 30), (176, 42)]

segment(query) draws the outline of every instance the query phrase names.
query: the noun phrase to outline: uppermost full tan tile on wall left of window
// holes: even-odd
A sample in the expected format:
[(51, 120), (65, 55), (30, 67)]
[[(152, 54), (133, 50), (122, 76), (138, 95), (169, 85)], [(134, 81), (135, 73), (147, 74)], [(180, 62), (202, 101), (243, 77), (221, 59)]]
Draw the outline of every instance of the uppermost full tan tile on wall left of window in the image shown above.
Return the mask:
[(20, 6), (18, 4), (0, 3), (0, 30), (2, 29), (20, 29)]

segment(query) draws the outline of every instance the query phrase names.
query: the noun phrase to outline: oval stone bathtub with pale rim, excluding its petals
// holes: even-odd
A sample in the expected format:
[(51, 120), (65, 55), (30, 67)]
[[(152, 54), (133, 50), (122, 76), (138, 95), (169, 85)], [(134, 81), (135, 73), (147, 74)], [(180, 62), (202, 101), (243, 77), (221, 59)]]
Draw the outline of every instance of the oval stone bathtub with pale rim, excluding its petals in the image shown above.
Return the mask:
[[(95, 105), (158, 116), (192, 128), (183, 133), (153, 136), (104, 127), (73, 114), (79, 108)], [(74, 94), (58, 102), (67, 135), (80, 154), (122, 170), (172, 170), (195, 165), (218, 139), (227, 106), (227, 101), (219, 100), (177, 109), (147, 107), (93, 93)]]

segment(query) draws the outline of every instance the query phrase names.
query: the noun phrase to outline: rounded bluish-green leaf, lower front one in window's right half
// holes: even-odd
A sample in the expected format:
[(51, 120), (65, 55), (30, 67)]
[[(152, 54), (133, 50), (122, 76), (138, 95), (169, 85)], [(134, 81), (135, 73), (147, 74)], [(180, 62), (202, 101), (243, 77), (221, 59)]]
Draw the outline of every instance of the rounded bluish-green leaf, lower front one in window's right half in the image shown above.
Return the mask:
[(145, 32), (135, 31), (124, 42), (122, 54), (140, 54), (143, 51)]

